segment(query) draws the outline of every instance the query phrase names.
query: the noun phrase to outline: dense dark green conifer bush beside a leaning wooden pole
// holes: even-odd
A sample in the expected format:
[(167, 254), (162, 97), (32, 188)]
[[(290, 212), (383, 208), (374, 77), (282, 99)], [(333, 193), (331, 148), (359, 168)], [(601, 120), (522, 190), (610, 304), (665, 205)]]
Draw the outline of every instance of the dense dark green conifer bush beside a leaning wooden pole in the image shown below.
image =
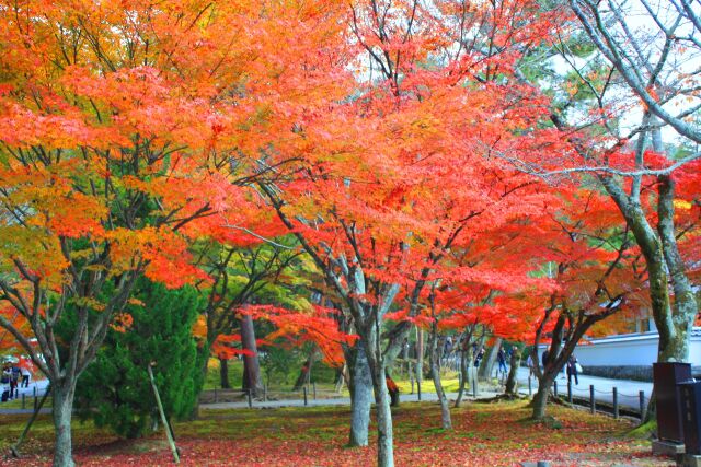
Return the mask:
[(198, 294), (188, 287), (169, 290), (141, 279), (131, 304), (108, 330), (104, 346), (81, 375), (74, 408), (126, 437), (138, 437), (158, 423), (158, 408), (147, 365), (154, 362), (156, 384), (169, 418), (192, 413), (203, 385), (192, 327)]

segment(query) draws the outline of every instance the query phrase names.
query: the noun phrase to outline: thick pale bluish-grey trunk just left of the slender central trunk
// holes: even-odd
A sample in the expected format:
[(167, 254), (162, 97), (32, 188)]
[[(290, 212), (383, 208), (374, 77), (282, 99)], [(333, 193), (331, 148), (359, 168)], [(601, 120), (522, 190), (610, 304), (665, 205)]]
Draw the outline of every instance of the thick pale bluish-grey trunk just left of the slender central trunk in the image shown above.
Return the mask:
[(355, 363), (350, 372), (350, 440), (349, 446), (368, 445), (368, 427), (372, 407), (372, 376), (363, 345), (356, 345)]

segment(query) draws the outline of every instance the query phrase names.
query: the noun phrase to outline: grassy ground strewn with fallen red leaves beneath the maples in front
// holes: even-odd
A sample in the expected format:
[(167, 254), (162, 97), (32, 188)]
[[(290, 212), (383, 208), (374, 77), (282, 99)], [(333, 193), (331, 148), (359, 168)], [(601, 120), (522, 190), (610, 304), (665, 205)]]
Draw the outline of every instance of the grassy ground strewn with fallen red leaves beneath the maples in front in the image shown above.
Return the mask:
[[(398, 466), (514, 466), (550, 460), (552, 466), (667, 466), (653, 457), (650, 441), (630, 435), (634, 424), (582, 410), (549, 406), (553, 419), (528, 420), (526, 401), (468, 402), (452, 409), (455, 430), (440, 427), (436, 404), (393, 409)], [(27, 416), (0, 417), (0, 452), (19, 436)], [(200, 418), (174, 424), (182, 464), (187, 466), (371, 466), (376, 448), (347, 448), (347, 407), (274, 410), (202, 410)], [(371, 427), (374, 429), (375, 425)], [(21, 459), (0, 465), (50, 464), (53, 428), (41, 416)], [(92, 423), (74, 422), (79, 465), (171, 465), (162, 432), (118, 440)], [(372, 444), (372, 443), (371, 443)]]

